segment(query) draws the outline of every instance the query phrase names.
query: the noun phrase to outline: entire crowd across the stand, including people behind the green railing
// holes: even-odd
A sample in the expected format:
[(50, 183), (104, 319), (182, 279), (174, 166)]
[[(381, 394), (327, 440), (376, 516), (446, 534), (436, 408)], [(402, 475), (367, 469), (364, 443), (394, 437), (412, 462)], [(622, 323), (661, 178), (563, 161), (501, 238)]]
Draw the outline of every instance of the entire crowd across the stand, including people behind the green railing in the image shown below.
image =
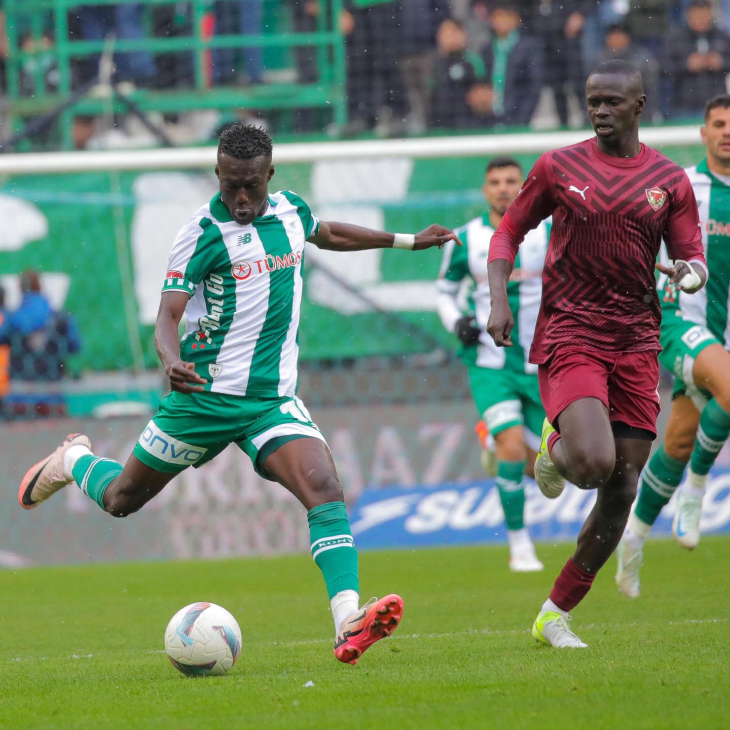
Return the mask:
[[(691, 118), (704, 99), (726, 90), (730, 70), (730, 0), (344, 0), (339, 18), (323, 18), (331, 12), (328, 0), (209, 0), (196, 29), (200, 18), (189, 1), (79, 4), (69, 12), (69, 34), (259, 37), (272, 32), (266, 3), (297, 34), (339, 26), (353, 132), (524, 126), (545, 98), (553, 99), (555, 123), (585, 121), (586, 74), (607, 58), (642, 70), (651, 120)], [(2, 0), (0, 31), (1, 7)], [(24, 50), (38, 50), (38, 39), (21, 41)], [(21, 74), (28, 94), (37, 64), (47, 89), (56, 82), (53, 29), (40, 44), (42, 53), (26, 58)], [(0, 38), (0, 57), (6, 50)], [(306, 42), (293, 48), (298, 82), (318, 82), (318, 53), (324, 51)], [(118, 80), (141, 87), (191, 88), (195, 81), (192, 54), (180, 50), (115, 53), (115, 66)], [(93, 80), (99, 57), (77, 58), (73, 70), (78, 88)], [(274, 82), (262, 47), (216, 47), (206, 73), (212, 86)], [(304, 130), (320, 120), (304, 110), (299, 117)]]

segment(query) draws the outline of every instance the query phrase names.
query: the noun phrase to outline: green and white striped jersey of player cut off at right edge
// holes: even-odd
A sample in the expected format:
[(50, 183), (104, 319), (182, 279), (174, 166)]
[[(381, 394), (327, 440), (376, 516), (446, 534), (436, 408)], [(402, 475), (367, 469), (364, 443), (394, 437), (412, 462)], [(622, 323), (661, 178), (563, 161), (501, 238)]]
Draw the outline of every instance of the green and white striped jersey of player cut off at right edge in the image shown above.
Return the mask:
[[(688, 167), (687, 173), (699, 207), (707, 285), (695, 294), (677, 291), (662, 274), (658, 280), (662, 314), (679, 316), (707, 327), (726, 347), (730, 346), (730, 180), (710, 172), (707, 160)], [(666, 250), (662, 246), (666, 259)]]

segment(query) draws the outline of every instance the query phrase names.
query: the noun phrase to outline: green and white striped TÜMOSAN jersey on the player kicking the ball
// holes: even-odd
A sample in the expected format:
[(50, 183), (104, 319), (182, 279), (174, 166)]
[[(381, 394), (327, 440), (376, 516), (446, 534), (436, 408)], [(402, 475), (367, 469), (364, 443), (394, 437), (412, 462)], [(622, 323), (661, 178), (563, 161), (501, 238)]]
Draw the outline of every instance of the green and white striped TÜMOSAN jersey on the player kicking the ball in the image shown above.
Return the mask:
[(307, 204), (280, 191), (248, 226), (218, 193), (177, 234), (162, 291), (190, 296), (180, 357), (207, 378), (206, 390), (294, 395), (304, 242), (318, 230)]

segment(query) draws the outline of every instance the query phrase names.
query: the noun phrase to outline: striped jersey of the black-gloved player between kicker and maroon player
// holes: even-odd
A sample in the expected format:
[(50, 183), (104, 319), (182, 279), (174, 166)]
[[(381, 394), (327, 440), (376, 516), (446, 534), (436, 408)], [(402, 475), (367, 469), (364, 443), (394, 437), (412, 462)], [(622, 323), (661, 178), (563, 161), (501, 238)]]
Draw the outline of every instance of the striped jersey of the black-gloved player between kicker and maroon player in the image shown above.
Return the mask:
[(497, 347), (487, 332), (487, 320), (491, 310), (491, 296), (487, 279), (489, 244), (494, 228), (489, 225), (489, 215), (466, 223), (456, 233), (463, 245), (449, 241), (444, 249), (441, 271), (437, 281), (439, 291), (439, 315), (444, 326), (453, 331), (456, 319), (457, 297), (461, 283), (470, 280), (469, 307), (482, 330), (477, 345), (464, 347), (462, 357), (466, 364), (503, 369), (515, 372), (537, 372), (537, 365), (528, 360), (534, 336), (537, 314), (542, 297), (542, 266), (550, 239), (551, 219), (543, 220), (526, 235), (515, 260), (515, 268), (507, 284), (515, 328), (512, 330), (513, 347)]

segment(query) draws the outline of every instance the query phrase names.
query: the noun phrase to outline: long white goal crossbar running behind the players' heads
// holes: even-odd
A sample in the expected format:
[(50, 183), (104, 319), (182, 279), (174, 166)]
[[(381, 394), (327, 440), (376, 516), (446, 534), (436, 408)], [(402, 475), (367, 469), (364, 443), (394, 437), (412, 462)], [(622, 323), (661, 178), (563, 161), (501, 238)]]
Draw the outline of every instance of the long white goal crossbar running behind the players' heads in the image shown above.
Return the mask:
[[(301, 142), (274, 145), (277, 163), (367, 158), (474, 157), (542, 153), (591, 137), (590, 130), (480, 134), (461, 137), (369, 139), (358, 142)], [(647, 127), (642, 142), (652, 147), (699, 145), (699, 125)], [(215, 146), (104, 152), (19, 153), (0, 155), (0, 175), (107, 170), (207, 169), (215, 164)]]

